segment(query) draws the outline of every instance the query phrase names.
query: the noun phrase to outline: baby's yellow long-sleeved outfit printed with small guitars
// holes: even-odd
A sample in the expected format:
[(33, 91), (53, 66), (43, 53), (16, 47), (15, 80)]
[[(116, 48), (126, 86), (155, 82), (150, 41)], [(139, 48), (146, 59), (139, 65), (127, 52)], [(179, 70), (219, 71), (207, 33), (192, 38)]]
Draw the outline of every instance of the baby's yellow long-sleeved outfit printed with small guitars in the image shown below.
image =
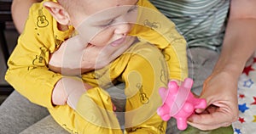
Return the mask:
[[(158, 13), (146, 0), (137, 5), (153, 8), (149, 13)], [(82, 75), (83, 81), (93, 88), (79, 98), (76, 110), (67, 105), (52, 105), (52, 90), (64, 75), (48, 68), (49, 54), (70, 37), (73, 27), (58, 31), (56, 21), (42, 3), (30, 9), (25, 30), (9, 58), (6, 81), (32, 103), (48, 108), (53, 118), (71, 133), (123, 133), (113, 114), (111, 98), (103, 89), (124, 82), (125, 133), (165, 133), (166, 122), (156, 114), (161, 103), (158, 88), (166, 86), (170, 78), (183, 80), (187, 76), (186, 42), (171, 21), (164, 18), (155, 21), (159, 27), (152, 26), (155, 18), (142, 12), (138, 25), (131, 31), (142, 42), (132, 45), (107, 67)]]

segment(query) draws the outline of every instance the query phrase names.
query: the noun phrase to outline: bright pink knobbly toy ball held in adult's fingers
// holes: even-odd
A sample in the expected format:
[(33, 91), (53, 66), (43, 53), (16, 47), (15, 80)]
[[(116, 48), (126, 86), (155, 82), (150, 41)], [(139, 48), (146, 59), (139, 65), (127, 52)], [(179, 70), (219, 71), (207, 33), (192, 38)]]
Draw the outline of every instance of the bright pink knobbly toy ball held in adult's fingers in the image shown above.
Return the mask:
[(205, 109), (207, 102), (203, 98), (195, 98), (190, 89), (193, 80), (186, 78), (179, 87), (175, 81), (169, 81), (168, 88), (160, 87), (159, 93), (162, 98), (162, 105), (157, 109), (157, 114), (162, 120), (170, 120), (171, 117), (177, 120), (177, 128), (185, 130), (187, 119), (195, 113), (195, 109)]

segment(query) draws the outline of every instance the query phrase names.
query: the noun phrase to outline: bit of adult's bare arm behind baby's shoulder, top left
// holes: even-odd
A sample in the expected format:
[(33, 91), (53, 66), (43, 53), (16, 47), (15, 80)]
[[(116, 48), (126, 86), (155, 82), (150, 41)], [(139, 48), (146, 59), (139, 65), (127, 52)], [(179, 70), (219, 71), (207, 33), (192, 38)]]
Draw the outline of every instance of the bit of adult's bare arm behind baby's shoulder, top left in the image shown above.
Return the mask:
[(41, 0), (13, 0), (11, 12), (16, 29), (19, 33), (21, 33), (24, 29), (29, 8), (32, 6), (33, 3), (39, 2), (41, 2)]

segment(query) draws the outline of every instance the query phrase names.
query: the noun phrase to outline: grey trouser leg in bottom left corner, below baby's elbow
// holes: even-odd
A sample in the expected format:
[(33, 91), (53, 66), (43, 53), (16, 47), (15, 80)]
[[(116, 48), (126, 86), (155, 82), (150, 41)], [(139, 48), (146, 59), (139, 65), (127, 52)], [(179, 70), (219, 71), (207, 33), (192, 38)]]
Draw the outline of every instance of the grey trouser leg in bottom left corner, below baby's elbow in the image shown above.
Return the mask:
[(17, 134), (47, 115), (47, 109), (14, 91), (0, 106), (0, 133)]

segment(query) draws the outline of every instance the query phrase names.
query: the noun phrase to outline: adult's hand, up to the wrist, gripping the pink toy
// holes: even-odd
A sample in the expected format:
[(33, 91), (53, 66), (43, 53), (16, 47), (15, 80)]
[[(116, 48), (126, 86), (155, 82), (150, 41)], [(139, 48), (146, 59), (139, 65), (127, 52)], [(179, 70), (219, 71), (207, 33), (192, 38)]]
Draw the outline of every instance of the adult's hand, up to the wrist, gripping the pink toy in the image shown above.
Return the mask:
[(189, 125), (201, 130), (230, 126), (237, 120), (237, 79), (229, 72), (210, 75), (204, 82), (200, 98), (206, 98), (207, 109), (196, 109), (189, 117)]

